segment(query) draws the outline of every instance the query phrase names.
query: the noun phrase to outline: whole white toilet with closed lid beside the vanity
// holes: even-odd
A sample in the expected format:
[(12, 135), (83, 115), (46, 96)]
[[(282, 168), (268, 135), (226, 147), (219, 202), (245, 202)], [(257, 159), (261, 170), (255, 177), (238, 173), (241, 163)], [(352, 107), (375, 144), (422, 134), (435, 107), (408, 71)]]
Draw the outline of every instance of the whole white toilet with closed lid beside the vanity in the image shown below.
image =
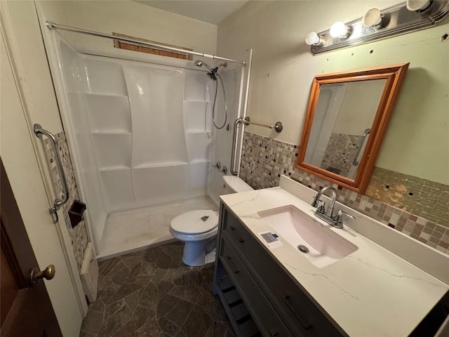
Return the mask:
[[(252, 191), (253, 188), (236, 176), (224, 176), (225, 184), (232, 192)], [(215, 261), (215, 237), (218, 213), (211, 209), (188, 211), (170, 222), (170, 234), (185, 243), (182, 262), (199, 266)]]

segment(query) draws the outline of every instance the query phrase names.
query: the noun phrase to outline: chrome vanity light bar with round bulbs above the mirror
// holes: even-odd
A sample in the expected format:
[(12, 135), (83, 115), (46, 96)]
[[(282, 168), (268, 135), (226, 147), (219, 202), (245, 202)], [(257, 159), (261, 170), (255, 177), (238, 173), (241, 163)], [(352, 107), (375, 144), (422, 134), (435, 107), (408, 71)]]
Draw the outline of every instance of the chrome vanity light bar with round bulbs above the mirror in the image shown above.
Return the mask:
[(357, 46), (434, 27), (449, 15), (449, 0), (408, 0), (380, 10), (371, 8), (363, 18), (335, 22), (330, 29), (306, 36), (312, 54)]

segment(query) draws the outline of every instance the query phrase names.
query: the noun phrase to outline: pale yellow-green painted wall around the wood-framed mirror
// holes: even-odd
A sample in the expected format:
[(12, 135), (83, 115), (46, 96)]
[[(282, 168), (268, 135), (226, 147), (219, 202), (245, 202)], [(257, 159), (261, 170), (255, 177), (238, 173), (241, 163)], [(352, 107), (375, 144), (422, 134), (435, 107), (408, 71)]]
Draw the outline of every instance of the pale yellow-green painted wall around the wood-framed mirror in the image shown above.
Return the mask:
[(449, 185), (449, 43), (441, 42), (449, 18), (431, 29), (316, 56), (304, 44), (311, 30), (398, 2), (250, 1), (221, 22), (217, 53), (241, 58), (254, 50), (248, 115), (284, 125), (280, 134), (257, 126), (248, 131), (299, 143), (315, 74), (410, 62), (376, 166)]

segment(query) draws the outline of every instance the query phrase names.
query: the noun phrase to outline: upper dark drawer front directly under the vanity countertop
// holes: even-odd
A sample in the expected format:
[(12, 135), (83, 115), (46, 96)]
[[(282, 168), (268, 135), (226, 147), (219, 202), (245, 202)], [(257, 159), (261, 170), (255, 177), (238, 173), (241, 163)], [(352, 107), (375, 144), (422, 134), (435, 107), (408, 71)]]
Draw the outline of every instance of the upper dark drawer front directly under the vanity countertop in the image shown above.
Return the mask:
[(294, 336), (346, 336), (227, 210), (222, 231)]

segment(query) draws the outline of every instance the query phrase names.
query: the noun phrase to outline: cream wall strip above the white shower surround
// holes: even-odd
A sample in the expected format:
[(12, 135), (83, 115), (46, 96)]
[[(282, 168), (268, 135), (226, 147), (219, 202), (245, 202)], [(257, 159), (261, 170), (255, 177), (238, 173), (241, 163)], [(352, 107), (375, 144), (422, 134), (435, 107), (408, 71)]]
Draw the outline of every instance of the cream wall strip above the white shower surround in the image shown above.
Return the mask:
[[(117, 32), (215, 54), (217, 26), (134, 1), (39, 1), (46, 20), (112, 34)], [(107, 52), (112, 41), (62, 32), (79, 51)]]

